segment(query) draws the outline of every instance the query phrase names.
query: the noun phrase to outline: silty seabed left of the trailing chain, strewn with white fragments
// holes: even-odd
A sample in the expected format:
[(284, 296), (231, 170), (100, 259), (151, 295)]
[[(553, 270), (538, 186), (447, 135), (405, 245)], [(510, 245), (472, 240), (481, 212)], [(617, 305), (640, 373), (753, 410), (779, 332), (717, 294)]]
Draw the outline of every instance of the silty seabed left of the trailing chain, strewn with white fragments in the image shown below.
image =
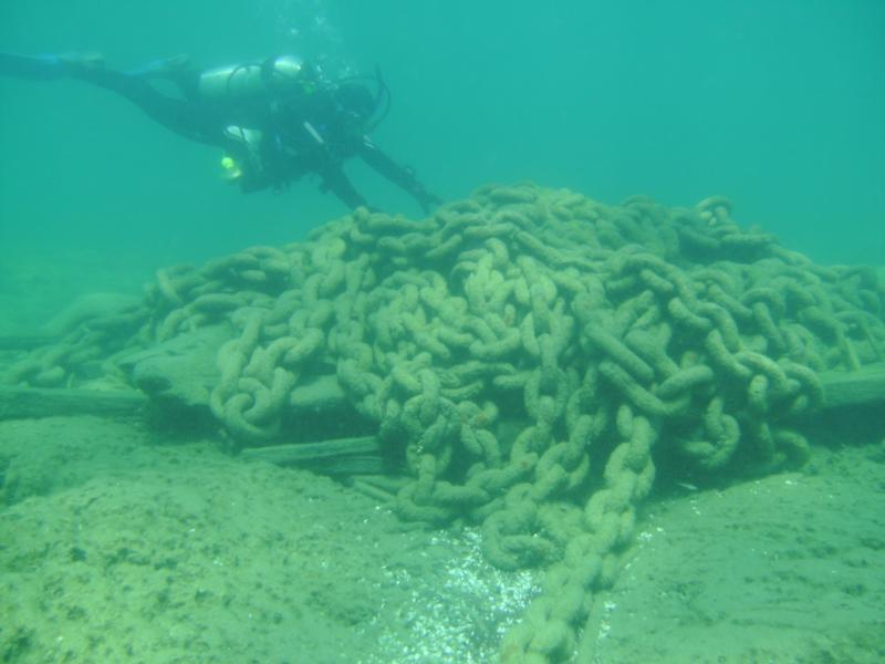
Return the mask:
[(482, 662), (534, 590), (473, 531), (138, 423), (0, 423), (0, 661)]

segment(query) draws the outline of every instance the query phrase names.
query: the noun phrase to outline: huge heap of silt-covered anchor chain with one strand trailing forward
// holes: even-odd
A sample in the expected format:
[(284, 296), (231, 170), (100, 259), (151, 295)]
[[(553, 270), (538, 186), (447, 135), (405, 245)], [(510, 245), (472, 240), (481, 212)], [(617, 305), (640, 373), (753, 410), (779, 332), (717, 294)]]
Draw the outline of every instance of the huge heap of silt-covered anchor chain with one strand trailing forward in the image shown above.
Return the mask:
[(653, 457), (801, 464), (791, 423), (821, 402), (816, 373), (881, 361), (883, 311), (874, 271), (814, 266), (722, 198), (489, 186), (425, 220), (361, 209), (305, 242), (162, 270), (136, 333), (92, 326), (9, 375), (71, 382), (82, 357), (225, 321), (210, 406), (254, 446), (284, 437), (296, 385), (334, 373), (403, 466), (404, 518), (481, 523), (496, 566), (546, 569), (502, 661), (565, 662)]

